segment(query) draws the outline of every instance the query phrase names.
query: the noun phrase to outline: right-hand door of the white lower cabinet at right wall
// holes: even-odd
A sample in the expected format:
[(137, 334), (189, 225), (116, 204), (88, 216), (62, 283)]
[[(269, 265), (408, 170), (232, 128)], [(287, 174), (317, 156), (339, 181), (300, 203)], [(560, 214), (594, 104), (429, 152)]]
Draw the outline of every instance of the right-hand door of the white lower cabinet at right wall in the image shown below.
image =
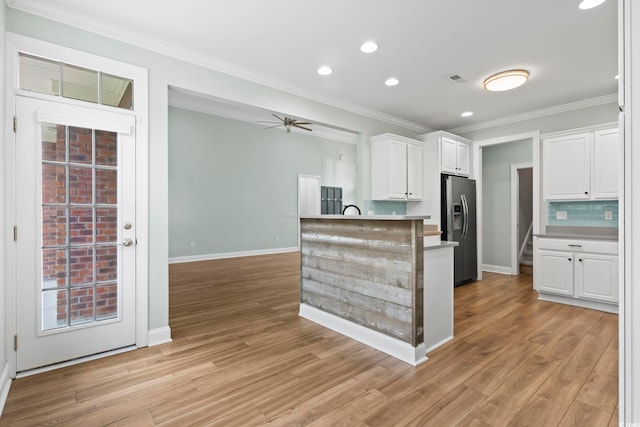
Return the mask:
[(575, 296), (604, 302), (618, 302), (618, 257), (576, 254)]

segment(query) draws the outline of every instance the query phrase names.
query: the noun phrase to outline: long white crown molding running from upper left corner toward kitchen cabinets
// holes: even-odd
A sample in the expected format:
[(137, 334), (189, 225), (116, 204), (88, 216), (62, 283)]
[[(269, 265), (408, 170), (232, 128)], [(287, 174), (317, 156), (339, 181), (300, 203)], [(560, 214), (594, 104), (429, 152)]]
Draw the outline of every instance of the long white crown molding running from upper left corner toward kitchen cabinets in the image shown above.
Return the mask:
[(185, 48), (174, 43), (167, 42), (155, 37), (133, 31), (129, 28), (109, 25), (103, 21), (93, 20), (86, 17), (80, 17), (73, 13), (69, 13), (59, 8), (47, 5), (43, 0), (6, 0), (7, 5), (22, 12), (40, 16), (49, 20), (57, 21), (62, 24), (70, 25), (84, 31), (99, 34), (113, 40), (136, 46), (142, 49), (150, 50), (164, 56), (169, 56), (181, 61), (185, 61), (194, 65), (205, 67), (214, 71), (228, 74), (253, 83), (270, 87), (292, 95), (300, 96), (311, 101), (319, 102), (341, 110), (349, 111), (370, 119), (379, 120), (391, 125), (400, 126), (414, 132), (428, 132), (431, 129), (413, 123), (399, 117), (391, 116), (377, 110), (369, 109), (361, 105), (349, 103), (337, 98), (328, 97), (323, 94), (314, 93), (303, 90), (298, 87), (286, 84), (271, 76), (258, 73), (245, 67), (232, 64), (227, 61), (214, 58), (203, 54), (202, 52)]

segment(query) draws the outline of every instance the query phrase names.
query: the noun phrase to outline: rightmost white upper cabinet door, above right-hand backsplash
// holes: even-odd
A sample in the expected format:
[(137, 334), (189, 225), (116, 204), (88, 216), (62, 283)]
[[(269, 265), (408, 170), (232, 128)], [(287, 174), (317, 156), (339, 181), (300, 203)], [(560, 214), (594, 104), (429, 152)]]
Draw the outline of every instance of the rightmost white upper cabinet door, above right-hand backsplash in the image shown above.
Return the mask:
[(618, 129), (594, 133), (592, 192), (594, 199), (617, 199), (620, 183)]

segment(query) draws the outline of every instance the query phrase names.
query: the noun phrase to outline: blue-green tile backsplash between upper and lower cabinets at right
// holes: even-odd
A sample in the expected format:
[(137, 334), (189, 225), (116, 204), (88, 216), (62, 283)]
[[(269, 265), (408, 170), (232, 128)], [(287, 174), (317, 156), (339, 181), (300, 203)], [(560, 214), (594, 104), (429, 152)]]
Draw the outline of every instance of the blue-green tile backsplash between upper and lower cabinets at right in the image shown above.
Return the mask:
[[(584, 202), (549, 202), (548, 225), (570, 227), (617, 227), (618, 201), (592, 200)], [(566, 212), (567, 219), (558, 219), (558, 212)], [(611, 220), (605, 219), (611, 212)]]

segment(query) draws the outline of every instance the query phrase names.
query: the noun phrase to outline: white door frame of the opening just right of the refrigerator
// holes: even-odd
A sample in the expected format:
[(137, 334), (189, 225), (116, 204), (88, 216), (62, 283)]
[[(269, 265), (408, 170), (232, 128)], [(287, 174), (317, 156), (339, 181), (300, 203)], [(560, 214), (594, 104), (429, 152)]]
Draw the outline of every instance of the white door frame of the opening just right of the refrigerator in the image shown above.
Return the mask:
[[(508, 142), (522, 141), (525, 139), (531, 139), (533, 141), (533, 233), (538, 233), (539, 223), (539, 209), (535, 209), (540, 205), (540, 184), (536, 178), (536, 170), (540, 165), (540, 131), (525, 132), (515, 135), (507, 135), (500, 138), (484, 139), (474, 141), (471, 144), (473, 149), (473, 177), (476, 179), (476, 185), (478, 188), (478, 200), (477, 200), (477, 220), (478, 224), (478, 280), (482, 280), (482, 265), (483, 265), (483, 235), (482, 235), (482, 148), (489, 147), (491, 145), (505, 144)], [(536, 166), (538, 165), (538, 166)]]

